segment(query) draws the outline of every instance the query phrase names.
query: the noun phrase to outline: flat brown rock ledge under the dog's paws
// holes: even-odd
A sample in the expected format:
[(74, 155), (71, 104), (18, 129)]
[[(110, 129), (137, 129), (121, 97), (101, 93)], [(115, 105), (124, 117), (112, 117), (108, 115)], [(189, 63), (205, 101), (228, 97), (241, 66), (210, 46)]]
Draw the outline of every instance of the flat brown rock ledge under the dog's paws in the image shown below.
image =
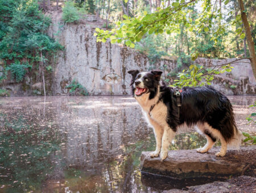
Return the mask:
[(163, 162), (160, 157), (151, 158), (151, 152), (142, 152), (141, 171), (184, 179), (195, 177), (230, 177), (256, 174), (256, 145), (241, 146), (240, 150), (228, 150), (225, 157), (214, 154), (220, 147), (212, 148), (209, 153), (193, 150), (171, 150)]

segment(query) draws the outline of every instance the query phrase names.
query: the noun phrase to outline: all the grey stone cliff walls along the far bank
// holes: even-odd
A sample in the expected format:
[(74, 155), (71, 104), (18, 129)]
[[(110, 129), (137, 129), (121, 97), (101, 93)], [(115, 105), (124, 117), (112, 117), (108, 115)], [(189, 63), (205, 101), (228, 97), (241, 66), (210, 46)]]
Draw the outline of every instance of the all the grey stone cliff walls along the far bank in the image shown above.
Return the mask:
[[(177, 66), (175, 60), (159, 60), (152, 66), (147, 56), (135, 49), (110, 44), (109, 41), (97, 43), (93, 33), (96, 27), (102, 26), (104, 20), (97, 20), (93, 15), (88, 15), (78, 24), (64, 24), (61, 10), (51, 13), (50, 16), (52, 25), (48, 34), (65, 49), (49, 61), (53, 69), (52, 73), (45, 73), (47, 95), (68, 95), (69, 90), (66, 87), (73, 80), (84, 86), (90, 95), (129, 95), (131, 76), (127, 71), (165, 69), (165, 77)], [(234, 60), (236, 59), (197, 58), (195, 62), (200, 65), (219, 65)], [(232, 72), (215, 75), (212, 86), (224, 94), (256, 94), (256, 81), (250, 61), (243, 59), (232, 63), (232, 66)], [(1, 74), (3, 68), (0, 61)], [(23, 82), (17, 83), (11, 79), (9, 73), (7, 79), (0, 83), (0, 89), (6, 89), (14, 96), (41, 95), (43, 83), (32, 74), (33, 72), (28, 73)]]

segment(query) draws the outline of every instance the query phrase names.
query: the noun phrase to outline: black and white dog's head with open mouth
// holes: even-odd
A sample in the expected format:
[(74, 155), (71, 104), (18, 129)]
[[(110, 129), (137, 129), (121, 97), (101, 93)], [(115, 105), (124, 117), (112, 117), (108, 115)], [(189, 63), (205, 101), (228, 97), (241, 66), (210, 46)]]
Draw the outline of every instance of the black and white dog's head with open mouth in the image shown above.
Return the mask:
[(139, 72), (139, 70), (130, 70), (129, 74), (131, 78), (131, 89), (133, 96), (139, 97), (144, 94), (150, 93), (149, 99), (155, 97), (162, 71), (151, 70), (150, 72)]

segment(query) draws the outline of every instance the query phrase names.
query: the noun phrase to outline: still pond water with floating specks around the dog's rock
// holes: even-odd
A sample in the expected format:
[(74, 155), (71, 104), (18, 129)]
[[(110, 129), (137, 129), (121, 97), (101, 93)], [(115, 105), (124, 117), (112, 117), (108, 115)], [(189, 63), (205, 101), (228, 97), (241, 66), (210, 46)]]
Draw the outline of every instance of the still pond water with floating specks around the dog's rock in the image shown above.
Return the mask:
[[(229, 99), (238, 128), (255, 135), (245, 118), (256, 96)], [(170, 149), (205, 142), (195, 132), (179, 133)], [(154, 133), (131, 97), (0, 98), (0, 192), (170, 190), (175, 186), (168, 180), (140, 172), (141, 152), (154, 149)]]

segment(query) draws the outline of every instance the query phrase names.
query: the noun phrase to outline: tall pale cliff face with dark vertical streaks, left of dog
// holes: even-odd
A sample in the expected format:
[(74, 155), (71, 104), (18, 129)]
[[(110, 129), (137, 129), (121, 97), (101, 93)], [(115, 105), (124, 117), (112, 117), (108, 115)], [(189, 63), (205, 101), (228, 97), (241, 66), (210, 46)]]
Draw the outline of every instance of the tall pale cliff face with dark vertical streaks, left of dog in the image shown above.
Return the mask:
[[(95, 25), (88, 20), (79, 24), (61, 24), (61, 18), (57, 16), (52, 22), (49, 35), (65, 47), (53, 67), (53, 95), (66, 95), (65, 86), (74, 79), (91, 95), (127, 95), (130, 94), (131, 78), (127, 71), (151, 68), (144, 54), (108, 41), (96, 43)], [(156, 68), (161, 69), (163, 65), (170, 70), (176, 66), (172, 60), (162, 60)]]

